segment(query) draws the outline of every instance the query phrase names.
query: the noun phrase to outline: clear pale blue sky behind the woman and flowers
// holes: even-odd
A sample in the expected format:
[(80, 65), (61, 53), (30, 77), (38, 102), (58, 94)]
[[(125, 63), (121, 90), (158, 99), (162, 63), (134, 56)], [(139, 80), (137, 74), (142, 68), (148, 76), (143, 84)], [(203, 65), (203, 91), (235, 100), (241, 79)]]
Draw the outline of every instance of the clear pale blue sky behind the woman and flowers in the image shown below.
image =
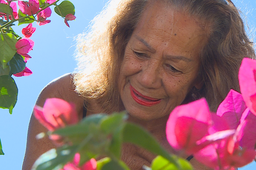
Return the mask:
[[(32, 57), (26, 66), (33, 74), (28, 77), (14, 77), (18, 87), (18, 100), (12, 115), (7, 109), (0, 109), (0, 138), (4, 156), (0, 156), (0, 170), (20, 170), (26, 149), (26, 136), (29, 119), (38, 94), (53, 79), (70, 73), (76, 68), (73, 59), (75, 50), (74, 37), (82, 33), (90, 20), (98, 14), (107, 0), (70, 0), (76, 8), (76, 20), (69, 21), (70, 28), (64, 20), (52, 9), (51, 23), (36, 27), (31, 39), (35, 46), (29, 55)], [(255, 0), (237, 0), (235, 5), (241, 9), (250, 28), (248, 31), (253, 39), (256, 29)], [(16, 23), (17, 25), (17, 23)], [(12, 27), (21, 35), (21, 29), (27, 25)], [(256, 163), (239, 168), (241, 170), (255, 170)]]

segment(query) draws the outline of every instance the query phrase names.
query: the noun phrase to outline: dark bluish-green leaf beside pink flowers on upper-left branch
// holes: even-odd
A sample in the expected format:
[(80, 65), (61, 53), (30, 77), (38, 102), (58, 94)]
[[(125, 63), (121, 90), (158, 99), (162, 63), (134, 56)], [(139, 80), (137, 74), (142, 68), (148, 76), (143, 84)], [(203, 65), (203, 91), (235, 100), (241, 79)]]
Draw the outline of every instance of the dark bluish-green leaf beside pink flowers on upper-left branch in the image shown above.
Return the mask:
[(26, 63), (24, 62), (23, 57), (16, 53), (11, 61), (9, 61), (9, 66), (11, 68), (9, 76), (11, 76), (12, 74), (23, 71), (25, 69)]

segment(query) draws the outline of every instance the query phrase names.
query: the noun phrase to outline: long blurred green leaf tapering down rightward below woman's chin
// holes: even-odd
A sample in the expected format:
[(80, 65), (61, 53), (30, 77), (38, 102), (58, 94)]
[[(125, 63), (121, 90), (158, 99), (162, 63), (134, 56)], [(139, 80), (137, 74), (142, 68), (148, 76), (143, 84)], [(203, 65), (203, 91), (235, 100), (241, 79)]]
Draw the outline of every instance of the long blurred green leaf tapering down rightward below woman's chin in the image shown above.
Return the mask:
[(149, 132), (138, 125), (131, 123), (125, 124), (123, 129), (123, 142), (136, 144), (152, 153), (163, 156), (175, 164), (175, 166), (179, 166), (174, 156), (171, 156)]

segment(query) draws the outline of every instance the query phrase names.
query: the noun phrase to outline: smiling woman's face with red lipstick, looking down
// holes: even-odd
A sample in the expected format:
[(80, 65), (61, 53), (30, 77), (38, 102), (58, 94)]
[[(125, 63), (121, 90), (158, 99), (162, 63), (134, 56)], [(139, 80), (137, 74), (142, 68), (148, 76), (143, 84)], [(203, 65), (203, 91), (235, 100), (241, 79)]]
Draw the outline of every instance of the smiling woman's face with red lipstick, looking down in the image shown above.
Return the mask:
[(131, 35), (119, 74), (125, 109), (138, 119), (169, 115), (195, 86), (205, 32), (195, 18), (154, 3)]

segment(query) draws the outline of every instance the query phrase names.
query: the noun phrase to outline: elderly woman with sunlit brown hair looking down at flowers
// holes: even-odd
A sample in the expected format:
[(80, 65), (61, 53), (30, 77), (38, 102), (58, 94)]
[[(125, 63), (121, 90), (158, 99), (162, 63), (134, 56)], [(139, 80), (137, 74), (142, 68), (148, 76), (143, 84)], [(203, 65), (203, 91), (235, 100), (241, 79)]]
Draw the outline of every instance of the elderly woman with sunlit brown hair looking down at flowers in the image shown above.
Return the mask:
[[(201, 97), (216, 111), (231, 88), (239, 91), (241, 60), (255, 57), (230, 0), (113, 0), (90, 28), (78, 39), (76, 74), (51, 82), (36, 104), (51, 97), (74, 102), (80, 119), (127, 110), (128, 121), (177, 155), (165, 136), (170, 112)], [(23, 170), (54, 147), (49, 139), (35, 139), (42, 131), (47, 130), (32, 115)], [(126, 144), (122, 159), (140, 170), (154, 155)]]

